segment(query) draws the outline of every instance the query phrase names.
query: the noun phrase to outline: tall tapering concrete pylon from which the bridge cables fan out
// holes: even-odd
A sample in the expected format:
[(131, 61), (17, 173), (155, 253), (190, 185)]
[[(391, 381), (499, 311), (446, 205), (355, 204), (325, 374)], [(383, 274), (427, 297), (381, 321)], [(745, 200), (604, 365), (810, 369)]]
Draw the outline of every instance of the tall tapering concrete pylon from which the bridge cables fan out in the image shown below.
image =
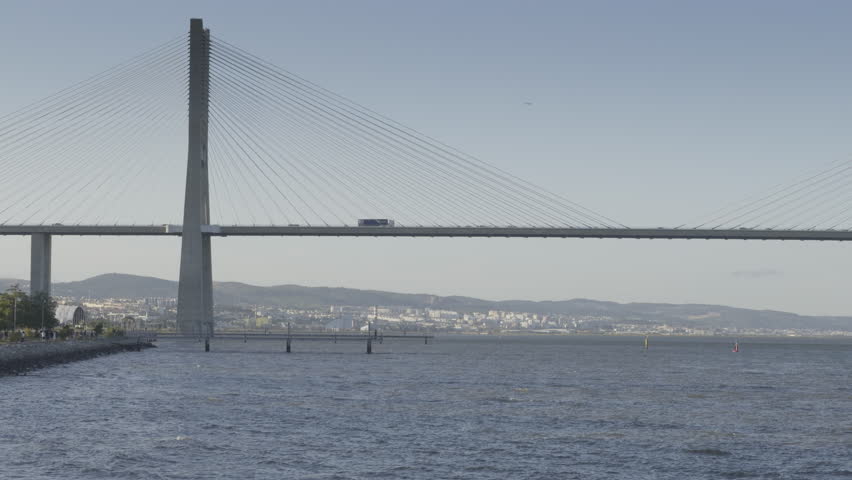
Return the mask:
[(210, 100), (210, 30), (200, 18), (189, 22), (189, 135), (186, 197), (178, 283), (177, 328), (182, 334), (213, 335), (213, 271), (207, 129)]

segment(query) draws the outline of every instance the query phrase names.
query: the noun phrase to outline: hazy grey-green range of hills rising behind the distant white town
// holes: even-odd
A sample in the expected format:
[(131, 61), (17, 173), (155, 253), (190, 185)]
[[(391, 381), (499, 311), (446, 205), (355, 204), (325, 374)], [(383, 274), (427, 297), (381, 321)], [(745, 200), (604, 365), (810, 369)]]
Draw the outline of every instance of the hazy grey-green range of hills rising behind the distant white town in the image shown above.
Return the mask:
[[(0, 288), (15, 283), (27, 288), (28, 282), (0, 279)], [(110, 273), (77, 282), (56, 283), (53, 293), (61, 296), (94, 298), (145, 298), (177, 296), (177, 282), (153, 277)], [(214, 282), (217, 304), (249, 303), (270, 306), (318, 307), (405, 306), (462, 312), (503, 310), (541, 314), (605, 316), (632, 322), (668, 323), (703, 328), (813, 328), (852, 331), (852, 317), (803, 316), (772, 310), (750, 310), (720, 305), (672, 305), (664, 303), (616, 303), (573, 299), (533, 302), (527, 300), (491, 301), (471, 297), (441, 297), (428, 294), (394, 293), (353, 288), (302, 287), (277, 285), (259, 287), (238, 282)]]

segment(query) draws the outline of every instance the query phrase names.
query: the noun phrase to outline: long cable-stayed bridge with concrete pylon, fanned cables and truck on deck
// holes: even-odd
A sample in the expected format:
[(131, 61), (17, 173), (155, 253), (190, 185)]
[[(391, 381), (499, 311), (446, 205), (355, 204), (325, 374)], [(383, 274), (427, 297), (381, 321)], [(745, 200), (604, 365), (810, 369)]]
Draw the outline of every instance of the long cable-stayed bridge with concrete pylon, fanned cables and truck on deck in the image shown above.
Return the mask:
[(703, 221), (630, 228), (272, 65), (200, 19), (188, 37), (0, 117), (0, 167), (0, 235), (31, 236), (33, 292), (49, 292), (54, 235), (179, 236), (178, 325), (200, 336), (213, 333), (217, 236), (852, 240), (850, 162)]

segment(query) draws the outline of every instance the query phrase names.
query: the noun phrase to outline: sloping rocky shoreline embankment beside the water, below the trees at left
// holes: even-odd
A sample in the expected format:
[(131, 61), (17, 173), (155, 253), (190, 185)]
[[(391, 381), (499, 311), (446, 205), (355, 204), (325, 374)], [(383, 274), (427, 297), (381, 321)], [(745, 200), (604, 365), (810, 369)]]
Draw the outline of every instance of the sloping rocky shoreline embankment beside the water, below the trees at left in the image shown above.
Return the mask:
[(150, 342), (128, 337), (0, 345), (0, 376), (21, 375), (51, 365), (152, 347)]

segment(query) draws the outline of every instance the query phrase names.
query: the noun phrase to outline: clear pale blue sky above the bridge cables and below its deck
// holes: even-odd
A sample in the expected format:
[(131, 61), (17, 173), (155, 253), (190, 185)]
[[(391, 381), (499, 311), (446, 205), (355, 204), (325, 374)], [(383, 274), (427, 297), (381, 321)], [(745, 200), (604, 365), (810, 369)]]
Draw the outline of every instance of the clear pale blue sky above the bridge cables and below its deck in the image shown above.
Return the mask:
[[(630, 226), (697, 223), (852, 151), (848, 2), (0, 8), (0, 115), (201, 17), (230, 43)], [(176, 171), (185, 161), (175, 155)], [(218, 281), (852, 315), (852, 246), (840, 243), (225, 238), (213, 249)], [(55, 238), (53, 278), (176, 279), (179, 250), (174, 238)], [(28, 238), (0, 238), (0, 252), (0, 277), (28, 277)]]

